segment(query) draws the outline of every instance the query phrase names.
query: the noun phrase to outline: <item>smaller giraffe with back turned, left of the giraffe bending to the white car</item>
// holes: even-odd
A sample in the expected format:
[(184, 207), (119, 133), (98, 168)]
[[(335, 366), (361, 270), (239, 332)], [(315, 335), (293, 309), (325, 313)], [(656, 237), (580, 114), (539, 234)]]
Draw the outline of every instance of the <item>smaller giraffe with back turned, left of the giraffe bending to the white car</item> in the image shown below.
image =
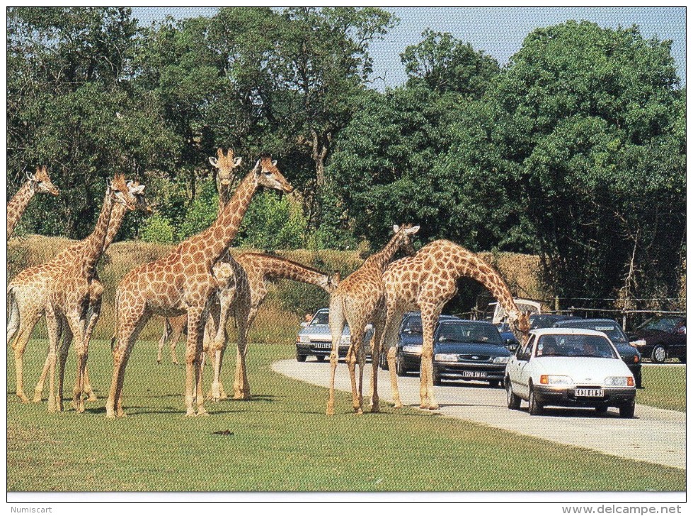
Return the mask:
[[(349, 324), (351, 342), (346, 356), (346, 363), (351, 377), (351, 394), (356, 414), (363, 413), (363, 368), (365, 354), (361, 347), (365, 327), (373, 323), (374, 342), (379, 343), (384, 328), (385, 287), (382, 274), (385, 266), (402, 246), (411, 245), (411, 235), (416, 233), (419, 226), (393, 226), (394, 236), (379, 252), (372, 254), (366, 261), (339, 283), (330, 298), (330, 332), (332, 334), (332, 352), (330, 353), (330, 395), (327, 401), (327, 415), (334, 414), (334, 378), (338, 362), (339, 340), (345, 322)], [(359, 385), (356, 389), (356, 362), (359, 362)], [(372, 350), (373, 363), (373, 394), (372, 411), (379, 411), (377, 368), (379, 363), (379, 346)]]

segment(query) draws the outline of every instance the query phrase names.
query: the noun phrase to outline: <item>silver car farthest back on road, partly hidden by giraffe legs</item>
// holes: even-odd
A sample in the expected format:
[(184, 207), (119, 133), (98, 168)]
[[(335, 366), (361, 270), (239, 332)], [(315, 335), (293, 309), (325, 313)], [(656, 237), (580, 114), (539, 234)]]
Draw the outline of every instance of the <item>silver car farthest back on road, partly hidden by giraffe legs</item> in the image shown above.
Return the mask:
[[(325, 357), (330, 356), (332, 352), (332, 334), (329, 324), (330, 310), (321, 308), (305, 327), (301, 329), (296, 337), (296, 360), (305, 362), (310, 355), (314, 356), (319, 362), (325, 360)], [(370, 359), (371, 354), (371, 339), (373, 338), (373, 328), (371, 324), (366, 326), (366, 334), (364, 336), (364, 350), (366, 358)], [(344, 325), (342, 336), (339, 339), (339, 358), (345, 358), (349, 351), (351, 343), (351, 333), (349, 325)]]

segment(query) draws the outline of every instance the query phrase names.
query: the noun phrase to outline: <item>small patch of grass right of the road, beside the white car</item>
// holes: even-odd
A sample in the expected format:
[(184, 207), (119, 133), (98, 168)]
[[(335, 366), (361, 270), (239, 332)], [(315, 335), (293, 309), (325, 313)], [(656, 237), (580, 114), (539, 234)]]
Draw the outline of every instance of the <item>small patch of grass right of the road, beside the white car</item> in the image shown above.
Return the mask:
[(660, 409), (686, 411), (686, 368), (673, 365), (643, 367), (644, 389), (637, 402)]

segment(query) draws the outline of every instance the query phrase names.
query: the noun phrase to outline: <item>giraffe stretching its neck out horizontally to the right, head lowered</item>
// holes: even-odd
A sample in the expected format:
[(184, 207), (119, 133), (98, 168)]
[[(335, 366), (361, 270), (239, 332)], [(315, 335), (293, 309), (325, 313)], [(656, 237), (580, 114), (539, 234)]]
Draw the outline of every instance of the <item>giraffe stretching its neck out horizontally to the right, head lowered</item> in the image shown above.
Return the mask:
[[(218, 304), (215, 303), (210, 312), (206, 332), (206, 340), (209, 341), (207, 347), (214, 357), (214, 380), (210, 392), (214, 401), (226, 398), (219, 375), (227, 346), (226, 322), (229, 315), (234, 315), (238, 329), (234, 399), (250, 399), (246, 373), (248, 332), (265, 300), (268, 282), (279, 279), (301, 281), (319, 286), (328, 293), (333, 293), (339, 283), (339, 274), (329, 276), (289, 259), (256, 252), (240, 253), (234, 258), (233, 262), (220, 262), (214, 268), (214, 275), (224, 285), (219, 289)], [(227, 284), (229, 287), (226, 287)]]

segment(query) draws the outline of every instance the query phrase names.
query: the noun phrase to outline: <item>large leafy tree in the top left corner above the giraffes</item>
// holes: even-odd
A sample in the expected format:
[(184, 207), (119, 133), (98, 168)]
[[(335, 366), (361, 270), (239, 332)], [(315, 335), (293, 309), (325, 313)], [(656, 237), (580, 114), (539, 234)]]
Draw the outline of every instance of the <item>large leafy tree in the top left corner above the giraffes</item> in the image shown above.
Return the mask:
[(8, 9), (8, 182), (45, 163), (62, 190), (30, 206), (25, 230), (80, 238), (106, 177), (166, 160), (163, 113), (128, 82), (136, 45), (127, 8)]

